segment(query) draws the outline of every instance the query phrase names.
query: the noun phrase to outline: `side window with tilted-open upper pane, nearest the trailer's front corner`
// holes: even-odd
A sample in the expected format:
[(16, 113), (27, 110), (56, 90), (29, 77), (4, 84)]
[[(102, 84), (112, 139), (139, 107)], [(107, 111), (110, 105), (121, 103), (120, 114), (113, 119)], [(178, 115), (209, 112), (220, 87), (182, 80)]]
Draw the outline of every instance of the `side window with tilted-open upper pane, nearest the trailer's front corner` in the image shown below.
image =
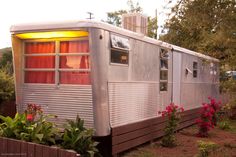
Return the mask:
[(111, 63), (129, 64), (129, 40), (111, 34)]

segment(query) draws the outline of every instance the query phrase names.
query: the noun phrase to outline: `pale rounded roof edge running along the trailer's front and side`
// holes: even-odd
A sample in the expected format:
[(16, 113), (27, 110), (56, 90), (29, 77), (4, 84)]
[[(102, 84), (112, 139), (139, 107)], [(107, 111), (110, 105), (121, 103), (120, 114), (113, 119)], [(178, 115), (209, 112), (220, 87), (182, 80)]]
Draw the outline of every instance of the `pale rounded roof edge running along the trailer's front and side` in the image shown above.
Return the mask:
[(113, 26), (105, 22), (98, 22), (94, 20), (77, 20), (77, 21), (61, 21), (61, 22), (45, 22), (45, 23), (26, 23), (13, 25), (10, 28), (12, 34), (25, 33), (25, 32), (40, 32), (40, 31), (50, 31), (50, 30), (78, 30), (78, 28), (100, 28), (108, 30), (117, 34), (128, 36), (130, 38), (135, 38), (144, 42), (159, 45), (164, 48), (172, 49), (181, 53), (190, 54), (207, 60), (219, 62), (218, 59), (200, 54), (176, 45), (172, 45), (160, 40), (149, 38), (143, 34), (135, 33), (120, 27)]

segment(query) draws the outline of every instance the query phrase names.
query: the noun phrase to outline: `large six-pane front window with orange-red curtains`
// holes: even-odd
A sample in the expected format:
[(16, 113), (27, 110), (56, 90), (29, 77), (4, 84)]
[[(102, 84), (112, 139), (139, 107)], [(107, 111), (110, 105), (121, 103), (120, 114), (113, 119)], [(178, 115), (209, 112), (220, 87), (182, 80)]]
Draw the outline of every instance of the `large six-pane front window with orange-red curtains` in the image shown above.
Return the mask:
[(25, 41), (24, 82), (91, 84), (88, 38)]

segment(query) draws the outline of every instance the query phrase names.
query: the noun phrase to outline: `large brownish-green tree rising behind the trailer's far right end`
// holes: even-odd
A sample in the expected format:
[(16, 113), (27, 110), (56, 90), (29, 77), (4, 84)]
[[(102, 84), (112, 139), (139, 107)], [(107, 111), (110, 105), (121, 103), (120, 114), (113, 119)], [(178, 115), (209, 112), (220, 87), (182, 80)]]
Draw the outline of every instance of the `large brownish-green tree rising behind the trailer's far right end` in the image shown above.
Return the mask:
[(236, 1), (180, 0), (162, 40), (204, 53), (236, 69)]

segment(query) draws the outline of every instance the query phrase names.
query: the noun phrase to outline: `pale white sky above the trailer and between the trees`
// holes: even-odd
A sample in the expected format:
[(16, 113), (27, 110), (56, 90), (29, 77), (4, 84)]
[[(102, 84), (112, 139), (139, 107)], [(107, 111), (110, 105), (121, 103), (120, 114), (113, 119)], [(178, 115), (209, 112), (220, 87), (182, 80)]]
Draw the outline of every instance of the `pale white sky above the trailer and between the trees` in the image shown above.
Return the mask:
[[(163, 25), (169, 0), (133, 0), (143, 8), (147, 16), (155, 17)], [(83, 20), (92, 12), (94, 20), (107, 19), (107, 12), (128, 9), (127, 0), (1, 0), (0, 48), (10, 47), (10, 27), (19, 23)], [(159, 30), (160, 31), (160, 30)], [(160, 32), (159, 32), (160, 33)]]

